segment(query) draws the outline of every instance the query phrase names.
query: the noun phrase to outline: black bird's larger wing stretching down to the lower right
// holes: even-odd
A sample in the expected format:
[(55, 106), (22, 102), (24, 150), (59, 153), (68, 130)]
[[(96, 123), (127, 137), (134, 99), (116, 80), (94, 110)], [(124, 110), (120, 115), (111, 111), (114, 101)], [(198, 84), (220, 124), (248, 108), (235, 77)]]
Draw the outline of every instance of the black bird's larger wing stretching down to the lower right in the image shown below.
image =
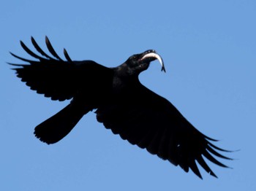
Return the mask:
[(217, 152), (227, 151), (211, 143), (216, 140), (195, 129), (165, 98), (143, 85), (136, 89), (131, 95), (125, 95), (129, 100), (97, 109), (97, 120), (129, 143), (146, 148), (173, 165), (180, 165), (186, 172), (190, 168), (201, 179), (196, 161), (209, 174), (217, 177), (203, 157), (227, 167), (214, 157), (230, 160)]

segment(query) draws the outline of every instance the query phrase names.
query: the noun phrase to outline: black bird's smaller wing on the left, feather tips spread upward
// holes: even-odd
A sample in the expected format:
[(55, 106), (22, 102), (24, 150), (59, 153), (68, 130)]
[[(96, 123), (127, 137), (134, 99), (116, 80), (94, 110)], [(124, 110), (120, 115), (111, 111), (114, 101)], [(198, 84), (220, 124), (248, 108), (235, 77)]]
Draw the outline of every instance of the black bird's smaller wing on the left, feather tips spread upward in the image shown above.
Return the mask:
[(10, 64), (18, 66), (18, 68), (14, 69), (17, 76), (21, 78), (21, 81), (26, 82), (26, 85), (31, 87), (31, 90), (36, 90), (37, 93), (42, 93), (52, 100), (64, 101), (70, 99), (81, 88), (86, 90), (86, 85), (90, 90), (90, 87), (96, 86), (91, 85), (92, 80), (97, 77), (103, 79), (104, 75), (109, 74), (110, 69), (94, 61), (72, 61), (65, 49), (64, 56), (67, 61), (62, 60), (53, 50), (47, 36), (45, 37), (45, 43), (51, 55), (45, 53), (33, 37), (31, 37), (31, 42), (41, 55), (32, 52), (23, 42), (20, 41), (20, 44), (23, 50), (35, 58), (36, 61), (21, 58), (10, 52), (15, 58), (29, 63)]

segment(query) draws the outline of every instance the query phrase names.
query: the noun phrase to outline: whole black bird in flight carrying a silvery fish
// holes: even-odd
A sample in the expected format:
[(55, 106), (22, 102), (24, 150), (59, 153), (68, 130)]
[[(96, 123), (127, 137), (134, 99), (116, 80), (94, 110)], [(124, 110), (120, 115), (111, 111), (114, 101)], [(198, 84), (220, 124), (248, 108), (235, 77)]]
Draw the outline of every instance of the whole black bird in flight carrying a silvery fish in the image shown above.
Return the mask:
[(190, 168), (201, 179), (196, 161), (208, 174), (217, 177), (203, 157), (227, 167), (213, 156), (231, 160), (217, 152), (227, 150), (216, 147), (212, 143), (216, 140), (200, 133), (173, 104), (140, 83), (138, 76), (148, 69), (151, 61), (159, 60), (165, 71), (156, 51), (132, 55), (120, 66), (107, 68), (94, 61), (72, 61), (65, 49), (67, 60), (62, 60), (47, 36), (45, 42), (51, 55), (46, 54), (33, 37), (31, 42), (41, 55), (29, 50), (23, 42), (20, 44), (37, 61), (20, 58), (11, 52), (15, 58), (29, 63), (10, 63), (18, 66), (14, 69), (17, 76), (31, 90), (52, 100), (72, 99), (60, 112), (37, 125), (34, 134), (39, 140), (47, 144), (60, 141), (84, 114), (96, 109), (97, 121), (119, 134), (121, 139), (173, 165), (180, 165), (186, 172)]

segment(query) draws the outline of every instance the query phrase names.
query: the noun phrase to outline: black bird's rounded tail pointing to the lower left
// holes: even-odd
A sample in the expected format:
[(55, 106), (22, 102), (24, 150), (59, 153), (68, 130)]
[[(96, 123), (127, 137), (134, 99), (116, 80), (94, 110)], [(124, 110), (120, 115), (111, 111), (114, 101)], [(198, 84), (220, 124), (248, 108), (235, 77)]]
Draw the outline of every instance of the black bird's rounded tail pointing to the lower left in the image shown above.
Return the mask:
[(47, 144), (54, 144), (72, 130), (84, 114), (91, 109), (80, 109), (75, 104), (69, 104), (58, 113), (37, 125), (34, 129), (35, 136)]

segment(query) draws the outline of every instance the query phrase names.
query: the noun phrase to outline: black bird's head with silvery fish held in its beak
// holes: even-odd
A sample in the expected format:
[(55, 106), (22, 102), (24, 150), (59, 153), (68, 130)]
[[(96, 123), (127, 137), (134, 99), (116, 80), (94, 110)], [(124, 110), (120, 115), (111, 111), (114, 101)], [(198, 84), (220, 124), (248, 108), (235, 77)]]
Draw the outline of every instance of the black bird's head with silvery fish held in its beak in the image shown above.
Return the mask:
[(140, 54), (130, 56), (119, 69), (127, 71), (128, 75), (138, 75), (141, 71), (148, 69), (151, 61), (158, 60), (162, 66), (162, 71), (165, 71), (164, 61), (155, 50), (146, 50)]

